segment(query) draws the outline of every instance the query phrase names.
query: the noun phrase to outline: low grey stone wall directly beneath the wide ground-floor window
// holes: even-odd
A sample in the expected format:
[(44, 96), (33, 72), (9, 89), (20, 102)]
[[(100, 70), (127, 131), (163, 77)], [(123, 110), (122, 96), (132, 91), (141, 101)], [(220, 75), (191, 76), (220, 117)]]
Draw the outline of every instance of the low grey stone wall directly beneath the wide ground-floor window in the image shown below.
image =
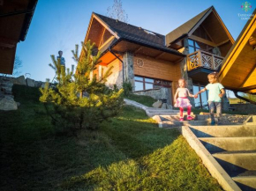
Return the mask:
[(133, 92), (137, 95), (147, 95), (154, 99), (167, 99), (167, 104), (172, 105), (172, 97), (171, 97), (171, 91), (170, 88), (159, 88), (159, 89), (153, 89), (153, 90), (144, 90), (144, 91), (138, 91)]

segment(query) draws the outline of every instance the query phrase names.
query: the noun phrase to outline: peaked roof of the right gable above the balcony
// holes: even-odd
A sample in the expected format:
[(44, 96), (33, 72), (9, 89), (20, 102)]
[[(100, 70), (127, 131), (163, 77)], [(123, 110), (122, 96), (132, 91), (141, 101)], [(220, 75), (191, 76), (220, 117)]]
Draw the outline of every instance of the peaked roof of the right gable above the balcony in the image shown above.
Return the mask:
[(226, 28), (224, 23), (222, 22), (222, 18), (218, 15), (217, 11), (215, 11), (215, 7), (211, 6), (207, 10), (200, 12), (197, 16), (194, 18), (188, 20), (185, 22), (183, 25), (178, 26), (175, 30), (172, 32), (168, 33), (166, 35), (166, 46), (169, 46), (171, 43), (173, 43), (175, 40), (180, 39), (183, 36), (190, 36), (192, 33), (197, 29), (198, 26), (209, 16), (211, 12), (215, 13), (216, 18), (219, 20), (221, 23), (223, 29), (229, 36), (231, 42), (233, 43), (234, 40), (229, 32), (229, 30)]

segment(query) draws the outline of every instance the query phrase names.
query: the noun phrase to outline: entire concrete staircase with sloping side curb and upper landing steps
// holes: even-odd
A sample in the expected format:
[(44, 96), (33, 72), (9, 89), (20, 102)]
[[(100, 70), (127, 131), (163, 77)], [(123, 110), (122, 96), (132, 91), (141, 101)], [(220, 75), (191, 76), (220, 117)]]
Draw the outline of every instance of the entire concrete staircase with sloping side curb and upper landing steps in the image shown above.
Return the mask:
[(178, 128), (224, 190), (256, 190), (256, 116), (249, 117), (243, 125), (207, 126), (208, 115), (197, 114), (194, 121), (186, 121), (184, 112), (184, 121), (179, 121), (178, 110), (124, 101), (144, 109), (159, 128)]

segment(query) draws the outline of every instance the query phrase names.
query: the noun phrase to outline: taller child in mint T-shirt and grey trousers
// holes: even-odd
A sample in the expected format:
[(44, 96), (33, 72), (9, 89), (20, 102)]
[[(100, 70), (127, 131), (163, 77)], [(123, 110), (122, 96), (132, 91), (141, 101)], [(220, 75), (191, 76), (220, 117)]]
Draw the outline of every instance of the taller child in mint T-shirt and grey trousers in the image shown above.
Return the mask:
[(213, 72), (208, 74), (209, 84), (202, 89), (200, 92), (196, 94), (196, 96), (205, 91), (209, 91), (208, 93), (208, 104), (211, 116), (211, 125), (215, 125), (215, 107), (217, 113), (217, 122), (220, 124), (220, 117), (222, 115), (222, 97), (225, 94), (225, 90), (222, 84), (218, 83), (218, 73)]

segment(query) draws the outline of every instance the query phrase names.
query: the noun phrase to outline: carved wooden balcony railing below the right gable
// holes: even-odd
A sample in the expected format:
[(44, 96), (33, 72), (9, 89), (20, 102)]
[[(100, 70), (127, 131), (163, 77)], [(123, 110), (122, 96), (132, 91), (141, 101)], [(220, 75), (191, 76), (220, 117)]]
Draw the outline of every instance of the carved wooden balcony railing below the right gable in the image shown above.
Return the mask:
[(222, 56), (213, 55), (203, 50), (198, 50), (187, 55), (187, 67), (189, 71), (199, 67), (217, 70), (222, 65), (222, 61)]

